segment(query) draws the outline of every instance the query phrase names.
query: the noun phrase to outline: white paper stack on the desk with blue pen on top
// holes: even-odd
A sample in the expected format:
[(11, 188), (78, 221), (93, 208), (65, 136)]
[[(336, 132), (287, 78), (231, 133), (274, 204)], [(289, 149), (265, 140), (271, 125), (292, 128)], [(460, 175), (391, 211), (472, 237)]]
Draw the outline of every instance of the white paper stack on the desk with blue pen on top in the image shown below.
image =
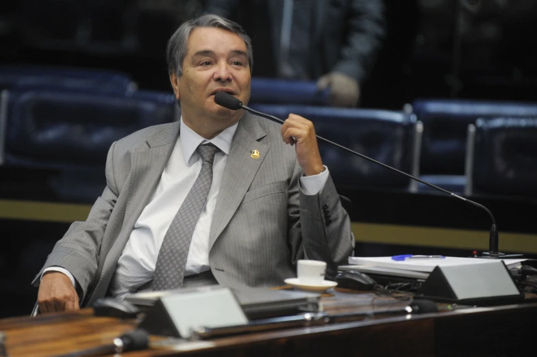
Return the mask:
[(458, 265), (483, 264), (490, 261), (503, 261), (510, 268), (519, 265), (527, 259), (480, 259), (480, 258), (459, 258), (457, 256), (446, 256), (445, 258), (430, 259), (406, 259), (405, 261), (394, 261), (391, 256), (349, 256), (349, 264), (353, 265), (374, 265), (377, 267), (388, 267), (403, 270), (413, 270), (414, 272), (432, 272), (437, 266), (453, 267)]

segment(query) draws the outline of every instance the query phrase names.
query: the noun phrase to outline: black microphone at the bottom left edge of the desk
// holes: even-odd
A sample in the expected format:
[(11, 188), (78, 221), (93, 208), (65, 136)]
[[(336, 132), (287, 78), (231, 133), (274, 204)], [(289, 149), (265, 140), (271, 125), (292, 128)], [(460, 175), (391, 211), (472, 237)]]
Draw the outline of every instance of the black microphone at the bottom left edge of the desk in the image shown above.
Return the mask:
[(58, 357), (79, 357), (79, 356), (103, 356), (105, 354), (122, 354), (127, 351), (137, 351), (147, 348), (149, 344), (149, 333), (140, 328), (116, 337), (113, 343), (99, 347), (82, 349), (70, 354), (62, 354)]

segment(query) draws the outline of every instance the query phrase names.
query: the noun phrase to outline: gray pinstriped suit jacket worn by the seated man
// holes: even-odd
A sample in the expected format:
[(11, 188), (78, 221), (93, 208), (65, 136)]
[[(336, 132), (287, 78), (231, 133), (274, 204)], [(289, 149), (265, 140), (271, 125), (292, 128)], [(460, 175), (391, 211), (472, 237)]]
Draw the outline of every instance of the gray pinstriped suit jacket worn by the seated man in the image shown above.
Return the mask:
[[(175, 122), (114, 142), (103, 194), (86, 222), (73, 223), (49, 254), (42, 270), (57, 265), (71, 272), (82, 305), (107, 293), (178, 135)], [(260, 152), (258, 159), (252, 150)], [(295, 263), (303, 258), (326, 261), (329, 276), (347, 263), (354, 238), (332, 179), (319, 194), (305, 196), (298, 185), (301, 174), (295, 148), (284, 144), (280, 126), (246, 113), (232, 142), (210, 229), (209, 262), (221, 285), (283, 285), (296, 276)]]

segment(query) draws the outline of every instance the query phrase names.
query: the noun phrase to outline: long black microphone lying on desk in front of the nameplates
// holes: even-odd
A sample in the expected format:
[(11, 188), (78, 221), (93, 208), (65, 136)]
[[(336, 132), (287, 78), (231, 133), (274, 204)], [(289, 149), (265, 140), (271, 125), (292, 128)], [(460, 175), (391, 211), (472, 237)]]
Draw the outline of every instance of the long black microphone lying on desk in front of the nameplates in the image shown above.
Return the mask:
[(436, 313), (438, 308), (431, 300), (414, 300), (403, 308), (384, 310), (379, 312), (356, 311), (350, 313), (305, 313), (303, 315), (291, 315), (273, 317), (271, 319), (259, 319), (250, 321), (244, 325), (222, 326), (209, 328), (205, 326), (192, 328), (192, 339), (206, 340), (237, 334), (277, 330), (279, 328), (297, 328), (307, 326), (321, 326), (328, 323), (353, 321), (360, 318), (374, 317), (375, 315), (400, 315), (400, 314), (424, 314)]

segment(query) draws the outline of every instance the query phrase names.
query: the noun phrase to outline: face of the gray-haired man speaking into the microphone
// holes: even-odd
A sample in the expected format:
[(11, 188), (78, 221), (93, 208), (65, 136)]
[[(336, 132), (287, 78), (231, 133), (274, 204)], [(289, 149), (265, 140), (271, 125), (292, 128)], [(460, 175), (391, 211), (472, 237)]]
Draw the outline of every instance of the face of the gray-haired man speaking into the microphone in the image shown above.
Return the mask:
[(192, 30), (182, 69), (181, 77), (172, 74), (170, 79), (189, 127), (210, 126), (216, 133), (240, 119), (242, 110), (232, 111), (214, 103), (214, 94), (219, 91), (229, 92), (245, 105), (250, 99), (246, 44), (238, 35), (215, 27)]

